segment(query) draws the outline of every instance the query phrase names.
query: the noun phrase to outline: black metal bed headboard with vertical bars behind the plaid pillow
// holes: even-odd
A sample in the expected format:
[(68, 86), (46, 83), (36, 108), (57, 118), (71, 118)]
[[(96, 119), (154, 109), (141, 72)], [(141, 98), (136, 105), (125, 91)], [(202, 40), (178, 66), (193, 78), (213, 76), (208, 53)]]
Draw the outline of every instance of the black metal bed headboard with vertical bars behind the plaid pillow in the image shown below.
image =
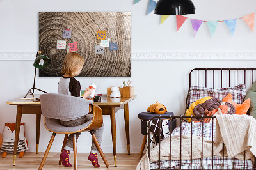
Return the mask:
[[(255, 81), (255, 71), (256, 68), (194, 68), (189, 73), (189, 88), (191, 86), (227, 88), (244, 83), (248, 89)], [(186, 109), (188, 107), (189, 91), (186, 98)]]

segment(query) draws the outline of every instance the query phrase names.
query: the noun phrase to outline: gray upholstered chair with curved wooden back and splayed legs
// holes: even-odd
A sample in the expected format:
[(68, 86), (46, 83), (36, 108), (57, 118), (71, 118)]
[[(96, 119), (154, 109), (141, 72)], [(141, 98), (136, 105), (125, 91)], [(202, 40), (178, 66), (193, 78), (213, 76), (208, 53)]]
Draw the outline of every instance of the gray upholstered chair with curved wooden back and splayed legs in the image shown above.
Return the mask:
[[(76, 127), (65, 127), (60, 125), (60, 123), (58, 122), (59, 119), (77, 118), (79, 116), (83, 116), (84, 112), (86, 112), (86, 109), (85, 109), (86, 107), (84, 107), (84, 105), (88, 105), (88, 103), (92, 103), (92, 102), (90, 102), (89, 100), (84, 100), (84, 98), (72, 97), (72, 96), (61, 95), (61, 94), (51, 94), (51, 93), (40, 95), (40, 102), (41, 102), (42, 115), (45, 116), (44, 117), (45, 128), (50, 132), (52, 132), (52, 137), (51, 137), (51, 140), (49, 141), (49, 144), (47, 146), (47, 149), (45, 151), (45, 154), (39, 169), (42, 169), (42, 167), (44, 166), (45, 160), (51, 149), (51, 146), (56, 134), (65, 134), (61, 151), (63, 151), (63, 148), (67, 143), (68, 134), (74, 134), (74, 137), (73, 137), (74, 169), (77, 169), (77, 146), (76, 146), (75, 133), (82, 132), (82, 131), (89, 131), (91, 133), (93, 142), (96, 144), (97, 149), (106, 167), (107, 168), (109, 167), (108, 161), (106, 160), (106, 157), (104, 156), (104, 153), (100, 148), (99, 142), (97, 141), (97, 138), (92, 131), (92, 130), (99, 129), (103, 123), (102, 110), (100, 109), (99, 106), (90, 104), (89, 109), (87, 109), (87, 112), (90, 112), (90, 114), (93, 113), (92, 121), (88, 121), (83, 125), (79, 125)], [(60, 158), (59, 164), (61, 165), (61, 158)]]

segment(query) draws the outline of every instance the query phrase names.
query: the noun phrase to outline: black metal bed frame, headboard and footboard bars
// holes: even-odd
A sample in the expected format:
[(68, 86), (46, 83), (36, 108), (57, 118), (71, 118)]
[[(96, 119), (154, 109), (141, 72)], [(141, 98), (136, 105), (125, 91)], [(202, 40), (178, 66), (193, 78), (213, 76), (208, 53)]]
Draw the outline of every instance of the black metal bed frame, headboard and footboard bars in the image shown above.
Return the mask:
[[(238, 79), (239, 79), (239, 72), (243, 71), (244, 72), (244, 84), (246, 84), (246, 71), (250, 71), (252, 72), (252, 83), (253, 83), (253, 75), (254, 75), (254, 71), (256, 70), (255, 68), (194, 68), (193, 70), (191, 70), (191, 72), (189, 73), (189, 88), (191, 87), (191, 77), (192, 77), (192, 73), (194, 71), (197, 70), (197, 86), (199, 86), (200, 84), (200, 81), (199, 81), (199, 72), (200, 70), (203, 70), (205, 72), (205, 87), (207, 87), (207, 70), (212, 70), (212, 82), (213, 82), (213, 88), (215, 87), (215, 72), (218, 71), (220, 72), (220, 82), (221, 82), (221, 88), (223, 87), (223, 72), (228, 72), (228, 86), (230, 87), (230, 72), (234, 72), (236, 71), (236, 84), (238, 85)], [(209, 77), (209, 76), (208, 76)], [(186, 109), (188, 109), (189, 107), (189, 91), (188, 91), (188, 95), (187, 95), (187, 98), (186, 98)], [(186, 110), (185, 110), (186, 112)], [(216, 118), (216, 116), (161, 116), (161, 114), (159, 116), (155, 116), (154, 118), (150, 119), (150, 121), (148, 122), (148, 125), (150, 125), (151, 121), (152, 120), (155, 120), (155, 119), (163, 119), (163, 120), (168, 120), (170, 122), (170, 127), (172, 127), (172, 120), (173, 118), (177, 118), (177, 119), (180, 119), (180, 125), (182, 123), (182, 121), (186, 121), (184, 118), (201, 118), (202, 120), (202, 136), (203, 136), (203, 129), (204, 129), (204, 126), (203, 126), (203, 121), (204, 121), (204, 118), (212, 118), (212, 121), (214, 121), (214, 119)], [(162, 122), (160, 121), (160, 127), (161, 127), (161, 124)], [(214, 162), (213, 162), (213, 143), (214, 143), (214, 139), (213, 139), (213, 127), (214, 127), (214, 123), (212, 123), (212, 169), (214, 167)], [(191, 121), (191, 128), (193, 129), (193, 123)], [(166, 168), (166, 169), (172, 169), (171, 167), (171, 149), (172, 149), (172, 140), (171, 140), (171, 128), (169, 128), (169, 133), (170, 133), (170, 158), (169, 158), (169, 167)], [(182, 126), (180, 126), (180, 135), (182, 135)], [(147, 148), (147, 151), (148, 151), (148, 158), (150, 158), (150, 126), (148, 126), (148, 148)], [(202, 137), (202, 143), (203, 143), (203, 137)], [(161, 140), (159, 140), (159, 157), (158, 157), (158, 169), (161, 169), (161, 159), (160, 159), (160, 155), (161, 155)], [(191, 130), (191, 146), (192, 146), (192, 130)], [(181, 153), (181, 150), (182, 150), (182, 139), (180, 138), (180, 164), (179, 164), (179, 169), (181, 169), (181, 160), (182, 160), (182, 153)], [(202, 159), (203, 159), (203, 144), (202, 144), (202, 153), (201, 153), (201, 165), (200, 165), (200, 169), (203, 169), (203, 163), (202, 163)], [(193, 155), (193, 151), (192, 151), (192, 147), (191, 147), (191, 155), (190, 155), (190, 169), (192, 169), (192, 162), (193, 162), (193, 159), (192, 159), (192, 155)], [(254, 157), (256, 158), (256, 157)], [(235, 168), (235, 162), (234, 162), (234, 157), (232, 157), (233, 159), (233, 168)], [(224, 143), (223, 143), (223, 149), (222, 149), (222, 169), (224, 169)], [(244, 165), (243, 165), (243, 169), (246, 169), (245, 167), (245, 151), (244, 151)], [(254, 165), (253, 165), (253, 169), (256, 169), (256, 159), (255, 159), (255, 162), (254, 162)]]

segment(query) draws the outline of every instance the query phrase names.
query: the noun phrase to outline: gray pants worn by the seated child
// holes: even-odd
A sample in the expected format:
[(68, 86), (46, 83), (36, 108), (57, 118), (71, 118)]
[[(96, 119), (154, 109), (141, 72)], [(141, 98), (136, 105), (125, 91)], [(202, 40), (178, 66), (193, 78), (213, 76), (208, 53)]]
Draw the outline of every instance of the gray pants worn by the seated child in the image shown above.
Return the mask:
[[(90, 120), (92, 120), (92, 116), (84, 115), (81, 118), (78, 118), (76, 120), (69, 120), (69, 121), (60, 120), (60, 125), (63, 125), (65, 127), (74, 127), (74, 126), (82, 125), (83, 123), (86, 123), (87, 121), (90, 121)], [(99, 141), (100, 146), (102, 141), (103, 129), (104, 129), (104, 125), (102, 124), (102, 127), (100, 127), (98, 130), (93, 130), (95, 136)], [(80, 134), (81, 132), (76, 133), (76, 140), (78, 139)], [(68, 135), (68, 141), (64, 148), (65, 150), (73, 151), (73, 137), (74, 137), (74, 134)], [(93, 141), (92, 141), (91, 153), (98, 153), (97, 147)]]

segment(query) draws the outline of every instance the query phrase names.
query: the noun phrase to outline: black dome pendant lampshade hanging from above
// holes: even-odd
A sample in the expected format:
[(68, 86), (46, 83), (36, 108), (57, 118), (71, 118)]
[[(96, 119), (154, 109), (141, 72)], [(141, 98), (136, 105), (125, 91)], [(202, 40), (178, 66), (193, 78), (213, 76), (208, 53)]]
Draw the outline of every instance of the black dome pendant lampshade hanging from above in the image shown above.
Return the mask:
[(191, 0), (159, 0), (155, 14), (158, 15), (186, 15), (195, 14), (195, 6)]

